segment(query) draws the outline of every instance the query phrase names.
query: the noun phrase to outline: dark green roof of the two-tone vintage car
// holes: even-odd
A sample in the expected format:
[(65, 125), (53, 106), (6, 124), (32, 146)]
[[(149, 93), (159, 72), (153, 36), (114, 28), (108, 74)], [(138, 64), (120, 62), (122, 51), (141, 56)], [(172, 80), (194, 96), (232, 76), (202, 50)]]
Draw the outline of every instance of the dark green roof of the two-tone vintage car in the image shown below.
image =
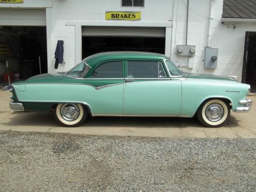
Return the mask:
[(113, 51), (91, 55), (84, 59), (89, 66), (94, 67), (97, 63), (113, 59), (169, 59), (159, 53), (134, 52), (134, 51)]

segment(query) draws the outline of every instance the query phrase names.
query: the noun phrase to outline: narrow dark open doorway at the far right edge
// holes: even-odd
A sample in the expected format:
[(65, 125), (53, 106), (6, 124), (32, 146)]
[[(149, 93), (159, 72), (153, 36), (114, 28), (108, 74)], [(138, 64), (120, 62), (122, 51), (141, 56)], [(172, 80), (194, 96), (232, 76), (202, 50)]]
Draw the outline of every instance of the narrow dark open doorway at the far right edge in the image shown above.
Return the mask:
[(242, 82), (256, 93), (256, 32), (246, 32)]

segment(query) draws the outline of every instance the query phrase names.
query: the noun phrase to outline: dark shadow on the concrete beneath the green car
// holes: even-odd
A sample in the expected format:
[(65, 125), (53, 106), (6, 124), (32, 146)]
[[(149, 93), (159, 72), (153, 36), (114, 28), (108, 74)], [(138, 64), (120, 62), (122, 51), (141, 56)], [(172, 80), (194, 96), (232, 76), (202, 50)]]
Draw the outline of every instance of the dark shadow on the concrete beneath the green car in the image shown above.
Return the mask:
[[(1, 114), (4, 115), (4, 114)], [(230, 121), (238, 124), (233, 116)], [(53, 113), (24, 113), (13, 114), (8, 121), (0, 123), (4, 126), (49, 126), (60, 127), (55, 121)], [(228, 123), (229, 124), (229, 123)], [(229, 125), (225, 126), (229, 126)], [(140, 128), (186, 128), (204, 127), (196, 117), (88, 117), (80, 127), (140, 127)]]

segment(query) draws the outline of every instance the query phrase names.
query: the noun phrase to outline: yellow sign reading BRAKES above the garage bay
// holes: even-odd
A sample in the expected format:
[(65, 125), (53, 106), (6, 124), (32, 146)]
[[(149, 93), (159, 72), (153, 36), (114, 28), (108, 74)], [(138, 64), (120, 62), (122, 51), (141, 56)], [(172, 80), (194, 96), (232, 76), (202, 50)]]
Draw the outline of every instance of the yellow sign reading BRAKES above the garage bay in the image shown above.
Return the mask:
[(106, 11), (105, 14), (106, 20), (140, 20), (141, 12), (133, 12), (133, 11)]

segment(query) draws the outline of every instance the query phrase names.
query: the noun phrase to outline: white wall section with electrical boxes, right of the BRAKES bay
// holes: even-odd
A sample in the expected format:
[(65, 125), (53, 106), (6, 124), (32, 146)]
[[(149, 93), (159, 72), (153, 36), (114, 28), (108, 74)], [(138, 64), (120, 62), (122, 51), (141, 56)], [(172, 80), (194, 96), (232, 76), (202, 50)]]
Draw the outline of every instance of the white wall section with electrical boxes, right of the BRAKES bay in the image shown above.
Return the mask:
[[(245, 32), (256, 31), (256, 23), (221, 23), (223, 0), (214, 0), (210, 26), (209, 47), (218, 48), (217, 69), (204, 69), (207, 46), (208, 18), (211, 0), (190, 0), (188, 17), (188, 45), (196, 45), (195, 57), (176, 55), (176, 46), (185, 44), (186, 0), (174, 0), (172, 59), (182, 70), (214, 75), (235, 75), (242, 80)], [(234, 29), (235, 28), (235, 29)], [(188, 68), (188, 60), (193, 68)], [(190, 66), (191, 67), (191, 66)]]

